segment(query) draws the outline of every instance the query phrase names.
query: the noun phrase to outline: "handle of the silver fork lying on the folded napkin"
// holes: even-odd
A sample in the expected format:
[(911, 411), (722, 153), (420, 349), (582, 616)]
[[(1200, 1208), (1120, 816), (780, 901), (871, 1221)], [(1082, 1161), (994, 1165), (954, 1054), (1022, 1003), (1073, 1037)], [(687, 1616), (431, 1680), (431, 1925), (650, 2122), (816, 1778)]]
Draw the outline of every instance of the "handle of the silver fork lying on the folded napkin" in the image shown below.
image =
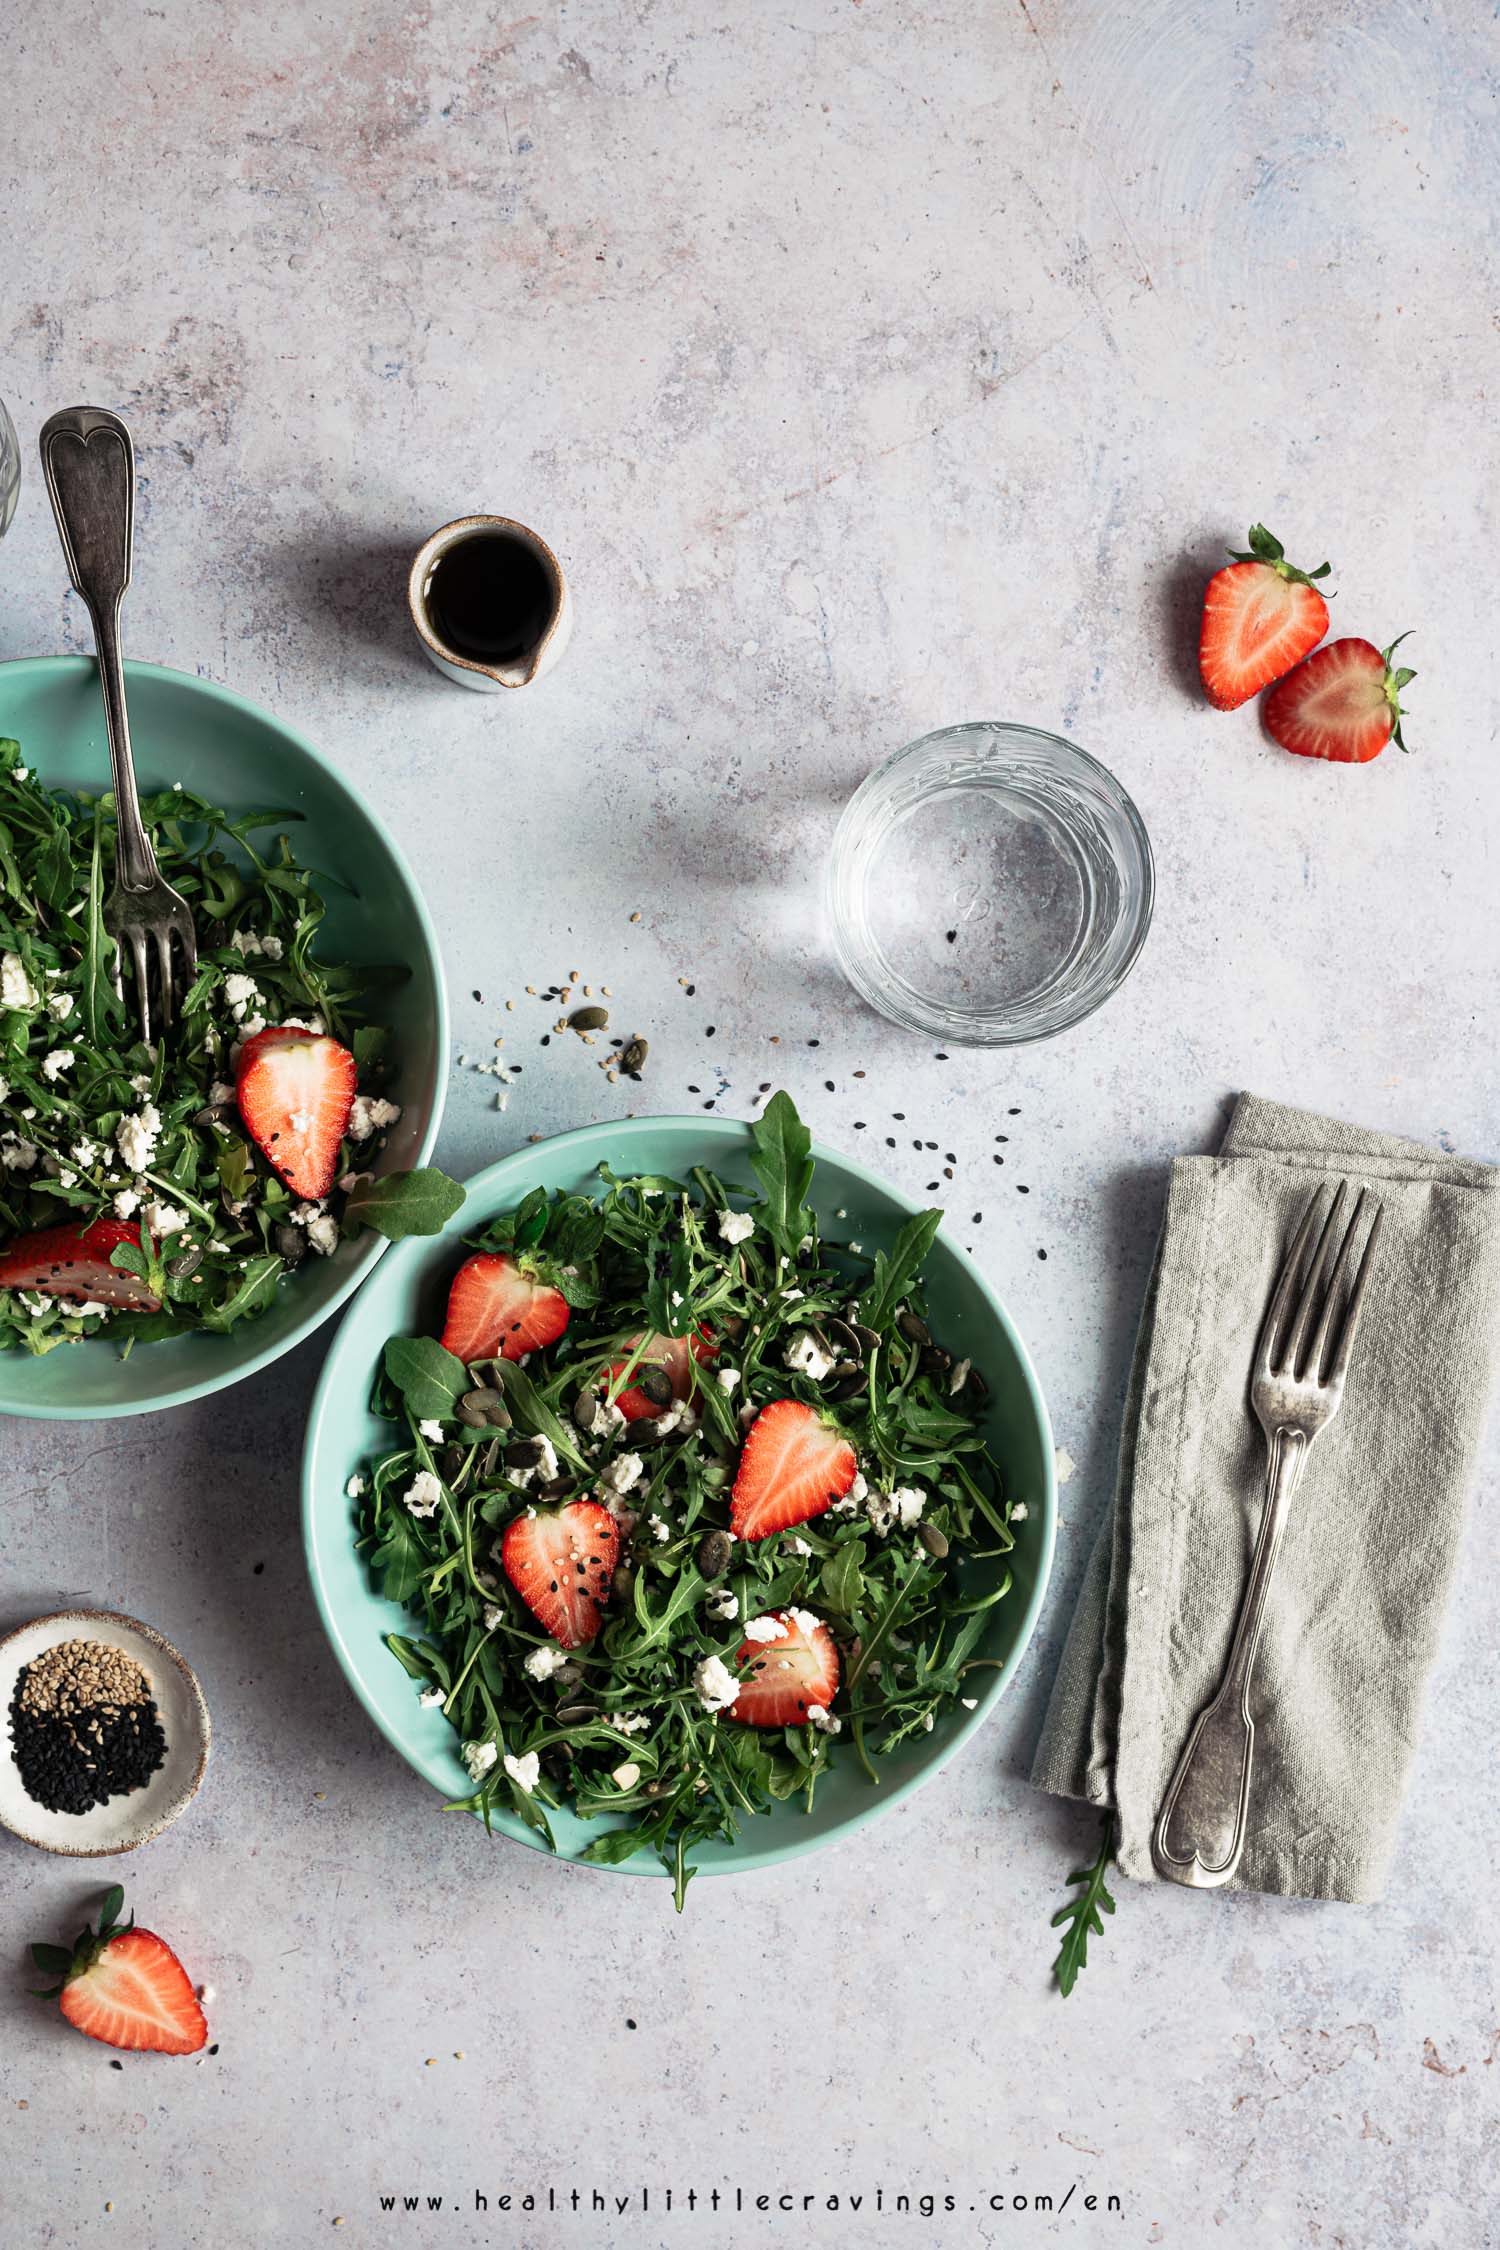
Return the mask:
[(1309, 1438), (1300, 1429), (1282, 1426), (1271, 1433), (1266, 1508), (1223, 1678), (1192, 1726), (1151, 1836), (1156, 1872), (1169, 1883), (1214, 1890), (1230, 1881), (1244, 1852), (1255, 1764), (1250, 1681), (1271, 1575), (1291, 1516), (1291, 1498), (1302, 1483), (1307, 1447)]

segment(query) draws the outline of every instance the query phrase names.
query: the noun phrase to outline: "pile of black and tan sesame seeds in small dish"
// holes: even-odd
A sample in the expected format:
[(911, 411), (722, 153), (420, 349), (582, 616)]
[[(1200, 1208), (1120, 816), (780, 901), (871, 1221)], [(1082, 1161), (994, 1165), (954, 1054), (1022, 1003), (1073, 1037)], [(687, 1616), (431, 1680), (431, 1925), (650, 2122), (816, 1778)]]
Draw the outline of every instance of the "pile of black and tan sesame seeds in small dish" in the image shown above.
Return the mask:
[(49, 1814), (144, 1789), (166, 1760), (151, 1681), (103, 1640), (58, 1640), (22, 1665), (9, 1717), (22, 1789)]

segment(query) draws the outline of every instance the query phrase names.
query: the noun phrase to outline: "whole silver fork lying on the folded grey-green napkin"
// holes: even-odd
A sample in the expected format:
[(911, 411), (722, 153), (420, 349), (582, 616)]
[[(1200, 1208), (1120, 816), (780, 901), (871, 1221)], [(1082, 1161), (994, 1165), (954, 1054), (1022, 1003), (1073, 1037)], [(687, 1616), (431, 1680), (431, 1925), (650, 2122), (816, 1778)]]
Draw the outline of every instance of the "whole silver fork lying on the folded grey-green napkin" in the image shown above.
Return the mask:
[[(1214, 1890), (1239, 1865), (1255, 1764), (1250, 1681), (1259, 1654), (1271, 1573), (1313, 1440), (1345, 1395), (1349, 1352), (1381, 1233), (1381, 1204), (1361, 1188), (1343, 1226), (1349, 1181), (1318, 1188), (1275, 1285), (1255, 1350), (1250, 1404), (1266, 1433), (1266, 1510), (1239, 1604), (1235, 1640), (1212, 1703), (1199, 1712), (1151, 1836), (1156, 1872), (1169, 1883)], [(1370, 1228), (1365, 1231), (1365, 1210)], [(1354, 1251), (1363, 1235), (1358, 1267)], [(1338, 1253), (1334, 1256), (1334, 1244)], [(1295, 1300), (1295, 1312), (1293, 1312)], [(1338, 1323), (1338, 1328), (1334, 1325)], [(1309, 1341), (1311, 1339), (1311, 1341)]]

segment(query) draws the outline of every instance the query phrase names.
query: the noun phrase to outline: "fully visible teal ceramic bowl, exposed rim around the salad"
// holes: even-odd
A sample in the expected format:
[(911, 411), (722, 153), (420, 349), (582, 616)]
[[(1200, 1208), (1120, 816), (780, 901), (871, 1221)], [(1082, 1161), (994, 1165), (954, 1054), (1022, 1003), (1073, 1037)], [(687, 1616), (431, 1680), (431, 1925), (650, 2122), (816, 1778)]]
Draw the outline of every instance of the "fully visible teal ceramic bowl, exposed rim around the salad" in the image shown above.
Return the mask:
[[(747, 1161), (749, 1130), (733, 1118), (630, 1118), (585, 1125), (580, 1132), (517, 1150), (470, 1179), (468, 1202), (445, 1240), (400, 1242), (380, 1264), (340, 1328), (313, 1400), (301, 1472), (301, 1521), (324, 1629), (349, 1685), (380, 1732), (443, 1798), (470, 1791), (457, 1737), (439, 1710), (421, 1708), (416, 1685), (385, 1647), (385, 1634), (409, 1631), (412, 1620), (371, 1588), (369, 1570), (355, 1552), (353, 1503), (344, 1487), (355, 1469), (391, 1442), (391, 1424), (369, 1411), (371, 1382), (387, 1336), (439, 1332), (448, 1282), (461, 1258), (461, 1235), (477, 1231), (499, 1210), (510, 1210), (531, 1188), (596, 1192), (598, 1163), (605, 1156), (616, 1172), (668, 1172), (677, 1179), (686, 1179), (695, 1163), (704, 1163), (731, 1188), (747, 1192), (753, 1188)], [(846, 1156), (823, 1148), (814, 1150), (814, 1156), (812, 1202), (832, 1240), (852, 1238), (868, 1251), (886, 1249), (918, 1206)], [(830, 1224), (837, 1210), (846, 1213), (846, 1220)], [(778, 1804), (747, 1820), (738, 1843), (695, 1850), (693, 1856), (704, 1874), (774, 1868), (891, 1811), (985, 1724), (1030, 1640), (1052, 1566), (1057, 1492), (1048, 1411), (1025, 1346), (999, 1296), (942, 1235), (927, 1267), (927, 1296), (936, 1334), (951, 1352), (972, 1357), (990, 1382), (987, 1436), (1005, 1467), (1010, 1498), (1025, 1501), (1028, 1508), (1025, 1521), (1016, 1526), (1010, 1557), (1012, 1591), (996, 1604), (990, 1638), (978, 1649), (981, 1656), (996, 1658), (1001, 1670), (972, 1674), (976, 1710), (940, 1719), (931, 1735), (902, 1744), (882, 1760), (879, 1786), (852, 1757), (839, 1760), (819, 1784), (812, 1814)], [(567, 1811), (551, 1820), (562, 1858), (578, 1858), (607, 1825), (576, 1820)], [(495, 1827), (515, 1843), (546, 1850), (513, 1814), (497, 1814)], [(609, 1872), (661, 1874), (663, 1870), (650, 1854), (636, 1854)]]

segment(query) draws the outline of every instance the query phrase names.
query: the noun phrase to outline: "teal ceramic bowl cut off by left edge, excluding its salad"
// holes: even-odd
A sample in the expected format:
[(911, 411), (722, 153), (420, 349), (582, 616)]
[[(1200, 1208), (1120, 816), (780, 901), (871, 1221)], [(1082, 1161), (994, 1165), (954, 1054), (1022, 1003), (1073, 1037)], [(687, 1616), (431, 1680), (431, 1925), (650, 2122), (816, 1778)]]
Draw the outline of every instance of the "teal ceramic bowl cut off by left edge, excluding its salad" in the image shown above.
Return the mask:
[[(335, 878), (322, 947), (344, 961), (403, 961), (412, 976), (382, 999), (396, 1076), (382, 1163), (425, 1163), (439, 1134), (448, 1082), (443, 963), (412, 868), (358, 792), (281, 720), (189, 673), (126, 664), (130, 736), (142, 790), (180, 781), (214, 803), (299, 812), (297, 857)], [(110, 783), (99, 680), (88, 657), (22, 657), (0, 664), (0, 734), (16, 736), (43, 781), (101, 790)], [(178, 1336), (121, 1359), (108, 1336), (58, 1346), (43, 1359), (0, 1352), (0, 1413), (54, 1420), (153, 1413), (238, 1384), (310, 1336), (353, 1296), (380, 1253), (380, 1235), (358, 1235), (333, 1258), (308, 1260), (259, 1321), (227, 1336)]]

